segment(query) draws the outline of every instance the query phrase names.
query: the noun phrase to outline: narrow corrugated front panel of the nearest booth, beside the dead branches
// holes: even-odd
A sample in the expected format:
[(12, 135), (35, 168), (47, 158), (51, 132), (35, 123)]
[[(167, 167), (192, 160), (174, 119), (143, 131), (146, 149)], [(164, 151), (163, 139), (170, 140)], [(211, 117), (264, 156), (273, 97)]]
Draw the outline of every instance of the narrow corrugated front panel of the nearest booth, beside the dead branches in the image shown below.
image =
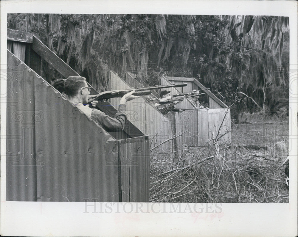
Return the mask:
[(122, 202), (149, 202), (149, 138), (121, 141)]

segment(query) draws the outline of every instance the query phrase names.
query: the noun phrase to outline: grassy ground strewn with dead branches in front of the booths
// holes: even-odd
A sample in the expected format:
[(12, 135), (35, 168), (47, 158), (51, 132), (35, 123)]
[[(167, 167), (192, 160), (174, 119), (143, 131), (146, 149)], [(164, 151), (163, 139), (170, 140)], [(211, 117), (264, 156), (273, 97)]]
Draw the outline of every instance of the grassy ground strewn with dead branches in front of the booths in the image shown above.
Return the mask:
[(150, 153), (150, 201), (288, 203), (289, 123), (232, 124), (232, 144)]

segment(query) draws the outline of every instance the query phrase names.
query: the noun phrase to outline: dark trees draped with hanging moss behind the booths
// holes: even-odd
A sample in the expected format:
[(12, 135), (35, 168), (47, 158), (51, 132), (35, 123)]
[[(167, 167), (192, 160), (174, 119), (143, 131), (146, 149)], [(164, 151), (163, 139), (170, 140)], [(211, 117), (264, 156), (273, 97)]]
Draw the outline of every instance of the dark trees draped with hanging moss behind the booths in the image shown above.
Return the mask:
[[(97, 90), (108, 72), (130, 71), (147, 84), (158, 76), (195, 77), (232, 112), (287, 107), (289, 22), (278, 16), (9, 14), (7, 27), (33, 32)], [(58, 75), (43, 64), (44, 76)], [(282, 75), (276, 77), (276, 75)], [(282, 95), (274, 97), (272, 93)], [(239, 110), (239, 111), (238, 111)]]

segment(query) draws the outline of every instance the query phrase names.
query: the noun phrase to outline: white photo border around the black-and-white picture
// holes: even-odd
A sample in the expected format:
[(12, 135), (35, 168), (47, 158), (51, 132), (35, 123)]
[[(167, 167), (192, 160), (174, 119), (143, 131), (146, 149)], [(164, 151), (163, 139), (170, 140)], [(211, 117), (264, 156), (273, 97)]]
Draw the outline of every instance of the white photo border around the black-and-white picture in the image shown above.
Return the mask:
[[(1, 70), (6, 69), (7, 13), (277, 15), (290, 18), (290, 70), (296, 72), (297, 1), (1, 1)], [(1, 95), (6, 81), (1, 78)], [(290, 98), (290, 117), (297, 98)], [(297, 121), (296, 121), (297, 123)], [(6, 103), (1, 103), (1, 235), (10, 236), (295, 236), (297, 235), (297, 124), (290, 121), (289, 203), (176, 204), (6, 202)], [(3, 139), (4, 138), (4, 139)], [(101, 205), (104, 206), (104, 213)], [(142, 208), (140, 209), (142, 205)], [(138, 209), (139, 207), (139, 209)], [(97, 209), (98, 208), (98, 209)], [(119, 208), (117, 210), (117, 208)], [(128, 209), (125, 209), (128, 208)], [(145, 209), (144, 209), (145, 208)], [(121, 210), (125, 209), (126, 213)], [(127, 211), (128, 210), (128, 211)], [(131, 213), (130, 210), (133, 210)], [(139, 211), (138, 211), (139, 210)], [(141, 210), (148, 210), (142, 213)], [(194, 210), (197, 210), (195, 212)], [(202, 213), (199, 213), (203, 210)], [(210, 213), (212, 210), (215, 212)], [(216, 210), (221, 210), (216, 213)], [(117, 213), (118, 212), (118, 213)], [(193, 213), (191, 213), (193, 212)]]

